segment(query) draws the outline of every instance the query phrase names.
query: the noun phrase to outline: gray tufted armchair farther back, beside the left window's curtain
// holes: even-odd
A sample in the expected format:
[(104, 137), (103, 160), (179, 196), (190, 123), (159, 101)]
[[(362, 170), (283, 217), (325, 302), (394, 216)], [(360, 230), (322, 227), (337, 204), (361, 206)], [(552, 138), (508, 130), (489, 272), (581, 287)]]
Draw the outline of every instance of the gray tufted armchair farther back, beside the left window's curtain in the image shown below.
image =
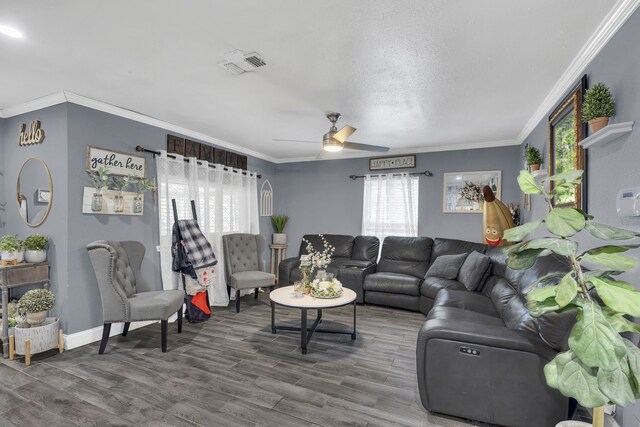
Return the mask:
[(240, 312), (240, 290), (274, 286), (275, 275), (265, 271), (265, 241), (260, 234), (227, 234), (222, 236), (224, 253), (224, 275), (227, 289), (231, 296), (231, 288), (236, 290), (236, 313)]

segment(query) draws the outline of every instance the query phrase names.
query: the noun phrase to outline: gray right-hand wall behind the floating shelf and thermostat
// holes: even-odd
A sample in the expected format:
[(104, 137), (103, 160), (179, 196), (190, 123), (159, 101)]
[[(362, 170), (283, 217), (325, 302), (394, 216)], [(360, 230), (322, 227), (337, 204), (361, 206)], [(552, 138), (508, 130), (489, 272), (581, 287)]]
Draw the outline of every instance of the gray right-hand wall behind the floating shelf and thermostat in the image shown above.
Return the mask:
[[(588, 150), (588, 206), (587, 210), (598, 222), (640, 231), (640, 217), (620, 218), (616, 214), (615, 197), (619, 189), (640, 186), (640, 10), (636, 11), (622, 29), (598, 54), (586, 70), (589, 87), (604, 82), (611, 88), (617, 104), (613, 122), (634, 121), (630, 135), (607, 145)], [(560, 101), (560, 100), (558, 100)], [(543, 150), (547, 155), (547, 121), (543, 120), (525, 141)], [(524, 147), (524, 146), (523, 146)], [(545, 165), (546, 166), (546, 165)], [(532, 210), (526, 212), (528, 220), (546, 214), (541, 200), (532, 200)], [(597, 241), (580, 236), (581, 247), (588, 248)], [(638, 252), (634, 253), (638, 257)], [(640, 287), (640, 268), (626, 275), (626, 280)], [(638, 425), (640, 405), (620, 411), (617, 417), (624, 426)]]

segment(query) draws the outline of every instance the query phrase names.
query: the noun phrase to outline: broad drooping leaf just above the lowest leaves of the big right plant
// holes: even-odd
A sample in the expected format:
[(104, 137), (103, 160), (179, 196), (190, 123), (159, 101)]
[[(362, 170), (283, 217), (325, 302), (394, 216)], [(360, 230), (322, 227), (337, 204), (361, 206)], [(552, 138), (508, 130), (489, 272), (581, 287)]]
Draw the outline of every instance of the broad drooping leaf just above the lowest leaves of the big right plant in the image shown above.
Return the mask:
[(569, 337), (569, 348), (582, 363), (612, 371), (626, 354), (622, 338), (611, 327), (595, 302), (584, 304)]

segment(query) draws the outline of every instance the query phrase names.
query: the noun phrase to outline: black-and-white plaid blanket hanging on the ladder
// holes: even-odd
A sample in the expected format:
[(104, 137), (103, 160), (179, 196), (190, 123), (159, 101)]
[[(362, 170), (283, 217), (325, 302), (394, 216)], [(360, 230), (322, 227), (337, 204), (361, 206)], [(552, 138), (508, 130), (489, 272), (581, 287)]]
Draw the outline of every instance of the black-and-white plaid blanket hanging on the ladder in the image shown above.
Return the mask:
[(207, 267), (218, 263), (211, 244), (200, 231), (198, 221), (193, 219), (176, 221), (173, 224), (172, 240), (174, 265), (176, 264), (176, 255), (180, 259), (178, 264), (182, 267), (186, 264), (185, 261), (190, 263), (193, 268)]

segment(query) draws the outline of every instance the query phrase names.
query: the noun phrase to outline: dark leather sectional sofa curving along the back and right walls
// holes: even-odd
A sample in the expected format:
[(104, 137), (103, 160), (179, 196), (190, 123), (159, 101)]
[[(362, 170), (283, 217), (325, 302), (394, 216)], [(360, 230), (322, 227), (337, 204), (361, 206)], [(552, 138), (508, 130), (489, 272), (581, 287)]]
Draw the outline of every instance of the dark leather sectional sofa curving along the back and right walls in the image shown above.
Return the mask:
[[(570, 416), (572, 402), (547, 386), (543, 367), (567, 348), (574, 313), (536, 318), (525, 297), (530, 286), (553, 285), (541, 283), (549, 273), (569, 270), (562, 258), (521, 271), (507, 266), (502, 247), (461, 240), (387, 237), (377, 264), (370, 249), (371, 257), (341, 260), (334, 272), (358, 302), (427, 316), (416, 348), (427, 410), (514, 427), (553, 426)], [(295, 260), (280, 264), (281, 283), (296, 277)]]

